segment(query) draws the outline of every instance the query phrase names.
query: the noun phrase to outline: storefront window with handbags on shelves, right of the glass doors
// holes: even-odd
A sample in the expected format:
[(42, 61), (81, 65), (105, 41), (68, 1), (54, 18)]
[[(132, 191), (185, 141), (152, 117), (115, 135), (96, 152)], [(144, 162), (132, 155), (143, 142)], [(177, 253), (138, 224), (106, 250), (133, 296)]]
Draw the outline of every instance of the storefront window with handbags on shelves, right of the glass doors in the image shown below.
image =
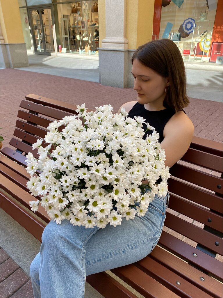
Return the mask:
[(98, 55), (97, 1), (55, 4), (54, 18), (58, 52)]

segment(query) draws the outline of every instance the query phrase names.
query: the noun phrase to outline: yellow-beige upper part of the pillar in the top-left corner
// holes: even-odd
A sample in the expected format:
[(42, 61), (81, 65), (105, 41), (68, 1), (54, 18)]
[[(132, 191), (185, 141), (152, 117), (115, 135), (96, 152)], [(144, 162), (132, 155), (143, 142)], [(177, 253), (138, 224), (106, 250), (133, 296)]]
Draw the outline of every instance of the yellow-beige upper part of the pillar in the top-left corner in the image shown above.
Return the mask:
[(5, 43), (24, 43), (17, 0), (0, 0), (0, 24)]

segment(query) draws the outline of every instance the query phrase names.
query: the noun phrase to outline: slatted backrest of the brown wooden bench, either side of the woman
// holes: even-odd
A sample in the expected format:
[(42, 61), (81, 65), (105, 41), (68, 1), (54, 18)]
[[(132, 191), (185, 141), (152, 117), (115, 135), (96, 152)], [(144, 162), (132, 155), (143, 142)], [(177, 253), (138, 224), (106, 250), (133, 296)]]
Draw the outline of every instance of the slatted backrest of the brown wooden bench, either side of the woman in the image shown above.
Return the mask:
[[(29, 94), (20, 107), (20, 119), (10, 141), (16, 151), (6, 147), (2, 153), (25, 165), (26, 153), (31, 151), (37, 156), (32, 144), (45, 136), (49, 123), (76, 114), (76, 106)], [(219, 280), (222, 280), (222, 263), (215, 255), (222, 255), (222, 164), (221, 143), (193, 138), (186, 154), (173, 167), (169, 208), (159, 240), (160, 246)], [(18, 174), (27, 190), (25, 181), (29, 175)], [(40, 210), (37, 215), (49, 222), (45, 212)]]

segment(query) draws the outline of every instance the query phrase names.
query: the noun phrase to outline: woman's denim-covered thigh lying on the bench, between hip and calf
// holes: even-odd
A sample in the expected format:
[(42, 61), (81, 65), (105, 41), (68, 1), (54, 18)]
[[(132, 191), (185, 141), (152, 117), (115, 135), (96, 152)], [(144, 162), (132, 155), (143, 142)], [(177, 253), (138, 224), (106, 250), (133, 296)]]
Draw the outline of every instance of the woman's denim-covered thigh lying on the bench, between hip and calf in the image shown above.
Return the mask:
[(155, 198), (146, 215), (123, 219), (119, 226), (98, 230), (85, 244), (86, 275), (134, 263), (148, 255), (157, 244), (164, 220), (166, 202)]

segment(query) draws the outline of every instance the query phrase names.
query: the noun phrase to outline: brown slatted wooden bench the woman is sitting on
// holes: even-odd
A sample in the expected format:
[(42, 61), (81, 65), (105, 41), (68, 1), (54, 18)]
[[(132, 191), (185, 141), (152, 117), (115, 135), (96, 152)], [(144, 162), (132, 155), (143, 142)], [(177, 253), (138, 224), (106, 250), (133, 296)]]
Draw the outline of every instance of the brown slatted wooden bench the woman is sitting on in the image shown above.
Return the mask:
[[(29, 210), (24, 155), (35, 155), (31, 144), (44, 137), (48, 124), (75, 114), (76, 107), (34, 94), (20, 107), (13, 148), (0, 152), (0, 207), (41, 241), (49, 218), (43, 208), (35, 215)], [(137, 297), (125, 283), (144, 297), (222, 297), (222, 262), (216, 259), (222, 255), (222, 144), (194, 137), (174, 166), (169, 192), (165, 227), (152, 253), (87, 277), (104, 297)]]

